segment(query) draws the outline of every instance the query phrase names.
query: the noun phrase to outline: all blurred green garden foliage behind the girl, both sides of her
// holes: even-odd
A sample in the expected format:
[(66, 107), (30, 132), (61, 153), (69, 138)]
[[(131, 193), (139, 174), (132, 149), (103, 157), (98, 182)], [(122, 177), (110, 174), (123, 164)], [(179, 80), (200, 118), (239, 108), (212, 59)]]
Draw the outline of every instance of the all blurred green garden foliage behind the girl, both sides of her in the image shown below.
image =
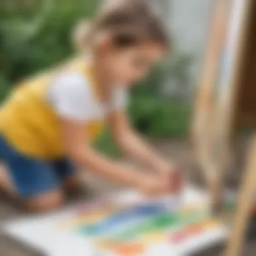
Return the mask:
[[(0, 100), (23, 77), (69, 57), (75, 23), (80, 18), (92, 18), (99, 1), (1, 1)], [(187, 99), (166, 94), (161, 85), (167, 81), (168, 88), (173, 82), (187, 90), (191, 57), (179, 53), (172, 59), (156, 67), (132, 92), (132, 122), (141, 133), (151, 137), (183, 137), (187, 133)], [(98, 145), (107, 152), (117, 152), (108, 134), (102, 136)]]

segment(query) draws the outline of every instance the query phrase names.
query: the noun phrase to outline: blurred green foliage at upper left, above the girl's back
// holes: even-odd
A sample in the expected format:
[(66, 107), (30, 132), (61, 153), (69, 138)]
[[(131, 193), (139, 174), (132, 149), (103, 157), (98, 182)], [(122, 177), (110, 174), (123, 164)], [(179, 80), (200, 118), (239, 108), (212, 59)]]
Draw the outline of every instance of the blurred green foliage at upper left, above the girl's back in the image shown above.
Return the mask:
[(84, 0), (1, 4), (1, 82), (13, 84), (71, 55), (71, 31), (77, 20), (92, 17), (96, 4), (97, 1)]

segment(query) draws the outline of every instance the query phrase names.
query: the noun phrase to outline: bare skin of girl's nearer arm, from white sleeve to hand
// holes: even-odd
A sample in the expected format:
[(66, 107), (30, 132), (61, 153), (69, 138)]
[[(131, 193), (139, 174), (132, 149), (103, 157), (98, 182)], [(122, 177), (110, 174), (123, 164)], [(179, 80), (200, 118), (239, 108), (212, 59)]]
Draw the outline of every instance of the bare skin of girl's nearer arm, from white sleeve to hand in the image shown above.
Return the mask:
[(100, 177), (135, 187), (146, 194), (166, 193), (167, 185), (156, 175), (143, 174), (108, 160), (94, 151), (86, 141), (84, 125), (76, 121), (62, 121), (63, 138), (69, 157), (78, 166), (97, 174)]

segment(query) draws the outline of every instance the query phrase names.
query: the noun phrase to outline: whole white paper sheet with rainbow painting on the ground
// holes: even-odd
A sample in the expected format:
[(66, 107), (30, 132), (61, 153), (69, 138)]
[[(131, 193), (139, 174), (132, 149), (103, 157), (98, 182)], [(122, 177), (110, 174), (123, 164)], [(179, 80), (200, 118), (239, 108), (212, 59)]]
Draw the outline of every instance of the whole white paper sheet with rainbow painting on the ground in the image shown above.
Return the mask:
[[(21, 236), (22, 229), (24, 236), (24, 227), (29, 232), (33, 222), (36, 223), (30, 220), (11, 224), (7, 230)], [(164, 253), (188, 255), (191, 251), (220, 242), (226, 236), (222, 222), (210, 216), (207, 197), (195, 189), (187, 189), (179, 197), (158, 199), (145, 199), (131, 191), (123, 192), (118, 197), (109, 196), (74, 205), (70, 210), (44, 220), (41, 218), (38, 222), (44, 223), (40, 228), (44, 226), (45, 233), (45, 228), (49, 228), (51, 239), (47, 239), (51, 240), (52, 246), (61, 243), (70, 251), (71, 244), (75, 249), (80, 245), (90, 247), (90, 254), (77, 253), (74, 256), (156, 256), (158, 253), (154, 251), (159, 250), (163, 251), (162, 256)], [(38, 226), (37, 231), (34, 228), (34, 234), (40, 232), (40, 228)], [(30, 238), (26, 235), (25, 241), (31, 242), (31, 234)], [(58, 243), (53, 243), (54, 240)], [(62, 250), (68, 252), (68, 249)], [(57, 248), (49, 248), (48, 251), (55, 251), (49, 255), (61, 255), (56, 253)]]

